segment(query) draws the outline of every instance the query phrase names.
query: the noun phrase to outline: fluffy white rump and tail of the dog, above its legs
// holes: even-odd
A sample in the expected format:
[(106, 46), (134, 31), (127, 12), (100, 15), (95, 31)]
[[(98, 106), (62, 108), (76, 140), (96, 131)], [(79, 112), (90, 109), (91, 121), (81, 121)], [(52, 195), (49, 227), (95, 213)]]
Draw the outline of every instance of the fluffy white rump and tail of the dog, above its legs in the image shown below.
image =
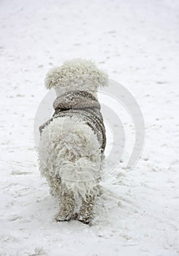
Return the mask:
[(94, 131), (85, 121), (75, 116), (54, 118), (42, 131), (42, 176), (50, 181), (50, 186), (58, 177), (67, 189), (85, 197), (102, 176), (104, 156), (99, 147)]

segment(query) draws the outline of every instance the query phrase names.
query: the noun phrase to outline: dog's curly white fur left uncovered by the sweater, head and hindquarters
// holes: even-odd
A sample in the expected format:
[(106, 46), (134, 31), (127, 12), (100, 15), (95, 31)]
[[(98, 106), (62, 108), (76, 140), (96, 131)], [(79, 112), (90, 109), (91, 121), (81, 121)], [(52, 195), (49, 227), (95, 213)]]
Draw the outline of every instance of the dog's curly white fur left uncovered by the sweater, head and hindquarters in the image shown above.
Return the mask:
[[(69, 90), (88, 91), (96, 97), (99, 86), (107, 86), (107, 74), (92, 61), (75, 59), (51, 69), (45, 78), (47, 89), (60, 95)], [(47, 178), (50, 192), (59, 200), (57, 220), (93, 216), (104, 154), (93, 129), (80, 116), (53, 118), (43, 130), (39, 144), (39, 170)], [(77, 217), (76, 217), (77, 214)]]

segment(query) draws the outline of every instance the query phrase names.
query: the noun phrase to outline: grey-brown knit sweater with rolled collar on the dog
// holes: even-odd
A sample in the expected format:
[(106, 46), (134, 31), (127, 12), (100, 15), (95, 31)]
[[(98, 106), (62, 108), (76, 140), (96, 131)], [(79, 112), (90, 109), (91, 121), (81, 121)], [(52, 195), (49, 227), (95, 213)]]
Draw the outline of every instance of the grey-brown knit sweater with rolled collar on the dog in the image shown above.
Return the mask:
[(106, 133), (100, 112), (101, 107), (98, 100), (92, 94), (87, 91), (67, 91), (56, 98), (53, 102), (53, 108), (55, 113), (53, 113), (52, 118), (39, 127), (40, 133), (47, 124), (50, 124), (50, 121), (53, 121), (53, 118), (77, 115), (94, 130), (100, 143), (99, 148), (101, 148), (102, 152), (104, 151)]

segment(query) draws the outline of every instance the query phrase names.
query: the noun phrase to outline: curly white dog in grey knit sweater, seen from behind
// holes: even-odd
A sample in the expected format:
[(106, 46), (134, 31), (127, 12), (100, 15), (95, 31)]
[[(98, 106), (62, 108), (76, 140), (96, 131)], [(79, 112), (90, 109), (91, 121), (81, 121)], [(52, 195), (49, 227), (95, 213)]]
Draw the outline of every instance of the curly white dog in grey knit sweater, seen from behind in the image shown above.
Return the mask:
[(107, 85), (107, 73), (84, 59), (47, 72), (45, 87), (55, 89), (57, 98), (53, 116), (39, 127), (39, 170), (58, 198), (57, 222), (88, 224), (94, 218), (106, 146), (97, 90)]

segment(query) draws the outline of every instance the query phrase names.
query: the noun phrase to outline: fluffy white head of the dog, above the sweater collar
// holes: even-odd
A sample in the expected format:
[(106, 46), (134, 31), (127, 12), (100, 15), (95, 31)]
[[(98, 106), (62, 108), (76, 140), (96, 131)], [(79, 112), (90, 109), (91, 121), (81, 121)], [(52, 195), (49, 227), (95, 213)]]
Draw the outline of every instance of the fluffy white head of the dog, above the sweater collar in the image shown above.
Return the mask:
[(92, 61), (73, 59), (65, 61), (61, 67), (55, 67), (47, 72), (45, 86), (54, 88), (56, 93), (80, 90), (88, 91), (96, 97), (99, 86), (107, 86), (108, 76)]

